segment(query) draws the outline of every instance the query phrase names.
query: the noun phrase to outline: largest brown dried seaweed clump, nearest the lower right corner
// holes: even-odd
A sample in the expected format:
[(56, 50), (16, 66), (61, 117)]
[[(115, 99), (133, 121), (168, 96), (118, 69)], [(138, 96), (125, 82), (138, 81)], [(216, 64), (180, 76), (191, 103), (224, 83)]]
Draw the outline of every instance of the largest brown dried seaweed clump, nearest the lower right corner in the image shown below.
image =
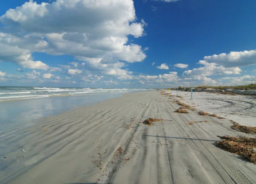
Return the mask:
[(256, 138), (218, 136), (223, 141), (216, 142), (216, 146), (231, 153), (236, 153), (244, 159), (256, 164)]

